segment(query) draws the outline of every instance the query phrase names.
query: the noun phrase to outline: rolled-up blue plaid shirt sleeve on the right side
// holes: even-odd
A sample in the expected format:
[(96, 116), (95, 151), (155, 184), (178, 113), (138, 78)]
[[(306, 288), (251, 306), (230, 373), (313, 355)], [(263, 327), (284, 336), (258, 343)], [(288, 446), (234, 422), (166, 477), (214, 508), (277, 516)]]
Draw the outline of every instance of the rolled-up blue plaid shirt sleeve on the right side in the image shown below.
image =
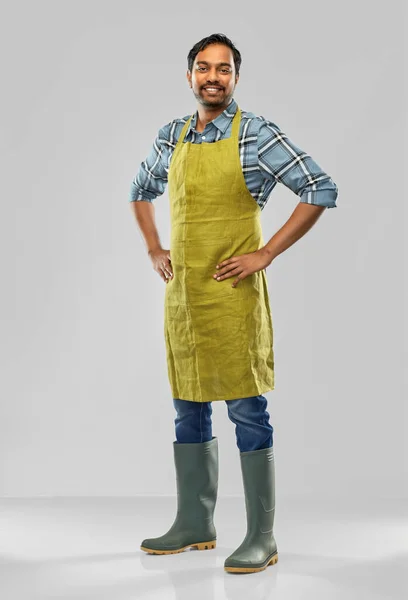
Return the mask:
[(258, 164), (265, 178), (283, 183), (300, 202), (337, 207), (338, 188), (333, 179), (271, 121), (264, 120), (259, 129)]

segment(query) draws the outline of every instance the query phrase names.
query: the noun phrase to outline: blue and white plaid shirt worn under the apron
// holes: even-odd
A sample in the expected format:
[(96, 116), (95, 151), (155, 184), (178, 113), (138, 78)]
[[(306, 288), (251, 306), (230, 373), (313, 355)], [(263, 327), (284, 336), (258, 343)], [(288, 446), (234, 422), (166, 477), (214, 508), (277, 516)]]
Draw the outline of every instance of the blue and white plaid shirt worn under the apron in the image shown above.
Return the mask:
[[(237, 103), (232, 99), (224, 112), (208, 123), (202, 132), (195, 130), (196, 112), (184, 141), (201, 144), (230, 137), (236, 110)], [(189, 118), (190, 115), (173, 119), (159, 130), (150, 154), (141, 163), (132, 181), (129, 202), (152, 202), (163, 194), (171, 156)], [(239, 156), (247, 188), (261, 210), (278, 181), (297, 194), (300, 202), (336, 208), (337, 185), (272, 121), (241, 110)]]

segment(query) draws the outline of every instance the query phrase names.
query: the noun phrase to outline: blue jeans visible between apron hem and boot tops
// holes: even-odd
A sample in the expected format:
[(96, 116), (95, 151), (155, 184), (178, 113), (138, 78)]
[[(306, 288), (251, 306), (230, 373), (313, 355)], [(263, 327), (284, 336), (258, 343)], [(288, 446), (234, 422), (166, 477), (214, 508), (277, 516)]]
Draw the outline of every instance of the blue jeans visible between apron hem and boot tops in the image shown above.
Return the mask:
[[(241, 452), (271, 448), (273, 427), (269, 423), (264, 396), (225, 400), (230, 420), (235, 423), (237, 446)], [(177, 411), (176, 440), (179, 444), (209, 442), (212, 439), (211, 402), (173, 398)]]

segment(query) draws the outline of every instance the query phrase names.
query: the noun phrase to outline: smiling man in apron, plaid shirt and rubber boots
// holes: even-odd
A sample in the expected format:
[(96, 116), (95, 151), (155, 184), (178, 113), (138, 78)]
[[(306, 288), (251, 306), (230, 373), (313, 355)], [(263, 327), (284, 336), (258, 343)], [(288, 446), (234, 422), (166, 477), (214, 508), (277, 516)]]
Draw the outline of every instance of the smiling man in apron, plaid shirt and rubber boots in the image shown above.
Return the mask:
[[(274, 389), (266, 268), (336, 206), (337, 186), (277, 125), (239, 109), (233, 94), (240, 65), (225, 35), (195, 44), (187, 81), (197, 111), (160, 129), (129, 200), (153, 268), (167, 284), (164, 333), (177, 411), (177, 515), (167, 533), (141, 548), (151, 554), (215, 548), (211, 403), (224, 400), (236, 425), (247, 514), (246, 536), (224, 568), (253, 573), (278, 559), (273, 427), (262, 395)], [(265, 244), (260, 212), (278, 181), (300, 202)], [(170, 250), (161, 246), (153, 209), (167, 184)]]

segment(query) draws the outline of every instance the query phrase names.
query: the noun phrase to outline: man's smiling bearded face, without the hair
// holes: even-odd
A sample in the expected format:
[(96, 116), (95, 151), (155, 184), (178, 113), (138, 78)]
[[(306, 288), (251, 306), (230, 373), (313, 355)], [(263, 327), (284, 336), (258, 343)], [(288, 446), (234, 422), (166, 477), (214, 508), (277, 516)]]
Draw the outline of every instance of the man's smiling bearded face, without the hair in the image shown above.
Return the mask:
[(192, 72), (187, 71), (187, 79), (197, 101), (204, 106), (228, 106), (239, 79), (231, 48), (210, 44), (201, 50), (195, 57)]

